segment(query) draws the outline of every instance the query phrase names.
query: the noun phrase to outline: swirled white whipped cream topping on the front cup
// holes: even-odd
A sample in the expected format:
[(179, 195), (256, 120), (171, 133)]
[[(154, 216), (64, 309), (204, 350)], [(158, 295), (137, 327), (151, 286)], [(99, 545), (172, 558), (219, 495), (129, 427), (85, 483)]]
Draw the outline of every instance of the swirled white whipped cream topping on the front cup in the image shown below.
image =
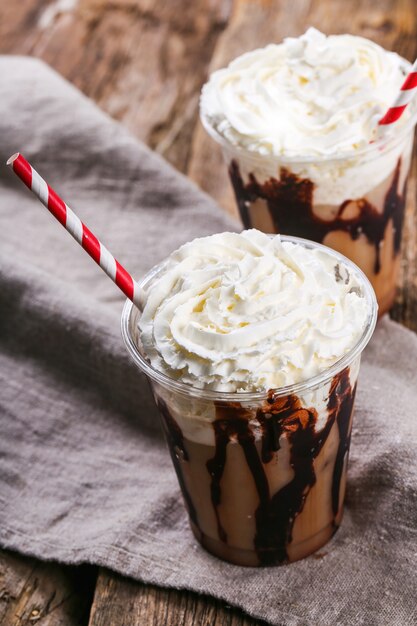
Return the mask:
[(361, 337), (368, 303), (322, 250), (257, 230), (185, 244), (145, 290), (152, 366), (197, 388), (261, 391), (323, 372)]

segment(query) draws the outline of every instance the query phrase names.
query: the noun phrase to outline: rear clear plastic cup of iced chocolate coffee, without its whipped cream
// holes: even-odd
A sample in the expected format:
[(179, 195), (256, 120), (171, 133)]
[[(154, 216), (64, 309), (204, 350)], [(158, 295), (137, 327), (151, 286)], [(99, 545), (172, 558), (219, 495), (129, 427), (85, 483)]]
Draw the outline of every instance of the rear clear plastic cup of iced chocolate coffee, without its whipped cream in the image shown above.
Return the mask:
[(245, 228), (304, 237), (356, 263), (375, 289), (379, 314), (394, 303), (417, 106), (389, 140), (336, 157), (260, 155), (228, 142), (204, 116), (222, 147)]

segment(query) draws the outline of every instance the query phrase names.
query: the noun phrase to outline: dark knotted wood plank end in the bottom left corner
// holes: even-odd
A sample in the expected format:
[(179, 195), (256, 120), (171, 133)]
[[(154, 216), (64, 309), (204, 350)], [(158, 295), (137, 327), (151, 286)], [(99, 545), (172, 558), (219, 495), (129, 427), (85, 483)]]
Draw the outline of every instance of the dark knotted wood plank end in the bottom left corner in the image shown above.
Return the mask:
[(96, 568), (0, 553), (0, 626), (87, 626)]

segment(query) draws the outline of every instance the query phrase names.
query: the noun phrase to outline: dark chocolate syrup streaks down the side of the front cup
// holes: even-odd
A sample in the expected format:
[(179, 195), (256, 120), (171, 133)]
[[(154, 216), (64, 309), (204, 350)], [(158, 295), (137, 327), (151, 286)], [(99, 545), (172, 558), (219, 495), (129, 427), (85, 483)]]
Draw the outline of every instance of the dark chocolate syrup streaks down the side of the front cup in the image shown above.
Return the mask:
[[(335, 459), (332, 479), (333, 526), (337, 529), (336, 516), (339, 512), (339, 493), (343, 467), (350, 442), (350, 416), (353, 409), (356, 387), (352, 389), (349, 368), (334, 376), (327, 402), (328, 417), (325, 425), (316, 431), (317, 412), (304, 408), (296, 395), (274, 397), (269, 393), (267, 401), (256, 412), (261, 427), (260, 450), (255, 443), (250, 420), (253, 412), (237, 402), (218, 403), (215, 433), (215, 454), (207, 461), (211, 476), (211, 500), (216, 514), (219, 539), (227, 544), (227, 533), (221, 524), (219, 505), (222, 502), (221, 480), (226, 466), (227, 446), (230, 442), (241, 446), (248, 468), (252, 474), (259, 497), (255, 511), (255, 550), (261, 565), (273, 565), (288, 560), (287, 548), (292, 540), (292, 531), (297, 515), (304, 507), (306, 498), (316, 482), (314, 460), (320, 454), (329, 433), (336, 423), (339, 430), (339, 447)], [(192, 503), (178, 459), (188, 461), (184, 439), (176, 421), (166, 404), (159, 399), (171, 456), (177, 471), (180, 487), (190, 518), (198, 528), (198, 518)], [(290, 466), (294, 471), (292, 480), (277, 493), (271, 495), (264, 466), (280, 449), (280, 437), (286, 434), (290, 450)]]

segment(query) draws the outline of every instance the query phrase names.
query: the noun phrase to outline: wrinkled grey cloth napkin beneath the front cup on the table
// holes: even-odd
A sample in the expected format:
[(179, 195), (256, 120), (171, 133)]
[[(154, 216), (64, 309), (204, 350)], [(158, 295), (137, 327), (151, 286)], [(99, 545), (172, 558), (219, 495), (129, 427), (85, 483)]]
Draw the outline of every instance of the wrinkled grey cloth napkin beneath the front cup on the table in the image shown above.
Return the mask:
[[(0, 161), (17, 150), (140, 277), (236, 229), (203, 193), (40, 61), (0, 57)], [(346, 512), (319, 554), (241, 568), (194, 540), (123, 297), (0, 167), (0, 542), (223, 598), (273, 624), (417, 620), (417, 337), (383, 320), (363, 359)]]

